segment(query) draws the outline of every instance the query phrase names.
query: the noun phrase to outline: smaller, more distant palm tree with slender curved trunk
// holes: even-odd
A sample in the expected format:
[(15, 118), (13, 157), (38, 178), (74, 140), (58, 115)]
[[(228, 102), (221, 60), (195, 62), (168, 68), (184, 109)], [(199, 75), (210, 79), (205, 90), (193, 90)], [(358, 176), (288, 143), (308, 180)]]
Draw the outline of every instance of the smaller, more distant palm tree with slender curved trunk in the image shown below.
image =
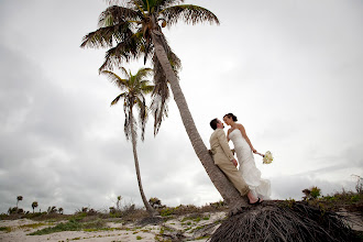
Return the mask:
[[(133, 157), (135, 162), (135, 169), (139, 183), (139, 189), (141, 194), (141, 198), (144, 202), (146, 211), (151, 216), (157, 215), (157, 212), (150, 206), (147, 199), (145, 197), (140, 175), (140, 166), (136, 151), (136, 121), (134, 118), (134, 107), (139, 110), (139, 121), (141, 125), (141, 140), (144, 140), (145, 124), (147, 121), (147, 107), (145, 103), (144, 95), (151, 94), (154, 89), (153, 85), (150, 85), (150, 81), (146, 79), (148, 75), (152, 74), (153, 69), (151, 68), (141, 68), (136, 73), (136, 75), (132, 75), (131, 72), (128, 73), (123, 67), (120, 68), (122, 74), (127, 77), (125, 79), (121, 78), (117, 74), (110, 70), (102, 70), (101, 74), (106, 75), (111, 82), (114, 82), (120, 89), (121, 94), (116, 97), (116, 99), (111, 102), (111, 106), (117, 105), (120, 99), (123, 99), (123, 111), (124, 111), (124, 133), (127, 140), (130, 139), (132, 141), (132, 151)], [(121, 200), (121, 196), (120, 196)]]

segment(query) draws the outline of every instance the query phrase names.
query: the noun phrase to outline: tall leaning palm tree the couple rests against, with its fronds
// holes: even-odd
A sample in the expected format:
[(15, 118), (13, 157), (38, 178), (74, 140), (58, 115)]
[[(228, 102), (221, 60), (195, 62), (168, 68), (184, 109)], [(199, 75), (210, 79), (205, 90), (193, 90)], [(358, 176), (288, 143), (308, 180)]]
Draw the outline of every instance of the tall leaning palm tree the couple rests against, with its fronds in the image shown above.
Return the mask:
[(167, 114), (169, 84), (188, 138), (211, 182), (228, 204), (246, 206), (246, 201), (241, 199), (233, 185), (213, 164), (199, 135), (179, 86), (177, 72), (180, 61), (162, 32), (162, 26), (172, 26), (178, 21), (219, 24), (219, 20), (205, 8), (178, 4), (183, 2), (184, 0), (128, 0), (123, 6), (111, 6), (100, 14), (99, 29), (84, 37), (81, 47), (109, 48), (100, 72), (140, 57), (144, 57), (144, 62), (151, 59), (155, 81), (151, 107), (155, 117), (154, 133), (157, 133), (163, 117)]

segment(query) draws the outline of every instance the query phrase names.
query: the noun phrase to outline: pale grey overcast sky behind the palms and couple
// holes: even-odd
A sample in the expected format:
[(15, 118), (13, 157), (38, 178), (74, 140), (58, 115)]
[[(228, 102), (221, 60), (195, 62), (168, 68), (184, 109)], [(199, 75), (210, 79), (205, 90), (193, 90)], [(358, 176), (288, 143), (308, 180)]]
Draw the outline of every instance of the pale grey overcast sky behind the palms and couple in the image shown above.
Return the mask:
[[(354, 190), (363, 176), (363, 2), (199, 0), (221, 24), (164, 33), (183, 63), (180, 85), (209, 147), (209, 121), (233, 112), (273, 199)], [(16, 205), (73, 213), (142, 206), (119, 94), (98, 75), (106, 50), (81, 50), (102, 0), (0, 0), (0, 213)], [(136, 72), (142, 63), (125, 64)], [(227, 130), (226, 130), (227, 131)], [(230, 144), (232, 146), (232, 143)], [(185, 133), (169, 118), (138, 145), (146, 197), (167, 206), (221, 199)]]

